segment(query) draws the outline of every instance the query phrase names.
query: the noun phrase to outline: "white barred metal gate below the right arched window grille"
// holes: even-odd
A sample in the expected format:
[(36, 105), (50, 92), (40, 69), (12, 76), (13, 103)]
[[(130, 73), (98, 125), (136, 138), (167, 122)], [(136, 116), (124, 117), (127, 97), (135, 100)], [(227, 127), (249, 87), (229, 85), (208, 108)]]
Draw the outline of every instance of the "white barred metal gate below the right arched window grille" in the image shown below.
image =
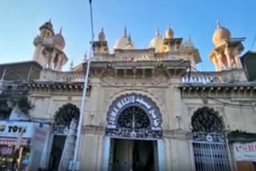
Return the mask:
[(196, 171), (230, 171), (230, 156), (224, 133), (193, 133)]

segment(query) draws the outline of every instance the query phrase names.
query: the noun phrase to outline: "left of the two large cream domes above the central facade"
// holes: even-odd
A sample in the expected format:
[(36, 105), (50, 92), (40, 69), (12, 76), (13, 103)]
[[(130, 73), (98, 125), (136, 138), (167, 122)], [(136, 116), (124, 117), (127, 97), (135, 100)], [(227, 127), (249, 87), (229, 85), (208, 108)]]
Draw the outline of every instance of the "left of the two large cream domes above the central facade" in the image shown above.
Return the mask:
[(130, 38), (130, 35), (127, 37), (127, 30), (125, 27), (122, 38), (118, 39), (114, 44), (114, 50), (131, 50), (134, 49), (134, 42)]

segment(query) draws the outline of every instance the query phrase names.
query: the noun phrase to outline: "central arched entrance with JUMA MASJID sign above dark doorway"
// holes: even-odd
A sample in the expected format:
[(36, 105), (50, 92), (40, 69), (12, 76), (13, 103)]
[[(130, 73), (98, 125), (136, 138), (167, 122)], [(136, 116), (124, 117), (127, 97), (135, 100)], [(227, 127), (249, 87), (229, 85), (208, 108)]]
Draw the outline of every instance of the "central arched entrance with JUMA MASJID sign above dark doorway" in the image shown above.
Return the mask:
[(118, 97), (107, 113), (110, 140), (109, 170), (158, 170), (158, 140), (162, 116), (149, 97)]

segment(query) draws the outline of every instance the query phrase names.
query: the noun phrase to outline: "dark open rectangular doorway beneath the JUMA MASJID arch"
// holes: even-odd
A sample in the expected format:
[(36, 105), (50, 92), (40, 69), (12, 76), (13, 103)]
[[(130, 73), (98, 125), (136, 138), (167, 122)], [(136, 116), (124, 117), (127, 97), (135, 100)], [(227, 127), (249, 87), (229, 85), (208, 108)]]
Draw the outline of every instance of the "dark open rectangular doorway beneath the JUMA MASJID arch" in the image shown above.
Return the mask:
[(112, 138), (110, 143), (110, 171), (158, 170), (157, 141)]

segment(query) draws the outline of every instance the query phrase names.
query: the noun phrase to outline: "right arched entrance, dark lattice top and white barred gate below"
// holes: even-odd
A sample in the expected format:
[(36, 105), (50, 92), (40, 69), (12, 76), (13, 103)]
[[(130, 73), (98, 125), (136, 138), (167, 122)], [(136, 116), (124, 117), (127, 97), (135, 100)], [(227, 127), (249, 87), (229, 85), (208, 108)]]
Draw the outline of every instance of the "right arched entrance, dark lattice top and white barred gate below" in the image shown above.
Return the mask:
[(218, 112), (204, 106), (194, 112), (191, 125), (195, 170), (230, 171), (224, 125)]

